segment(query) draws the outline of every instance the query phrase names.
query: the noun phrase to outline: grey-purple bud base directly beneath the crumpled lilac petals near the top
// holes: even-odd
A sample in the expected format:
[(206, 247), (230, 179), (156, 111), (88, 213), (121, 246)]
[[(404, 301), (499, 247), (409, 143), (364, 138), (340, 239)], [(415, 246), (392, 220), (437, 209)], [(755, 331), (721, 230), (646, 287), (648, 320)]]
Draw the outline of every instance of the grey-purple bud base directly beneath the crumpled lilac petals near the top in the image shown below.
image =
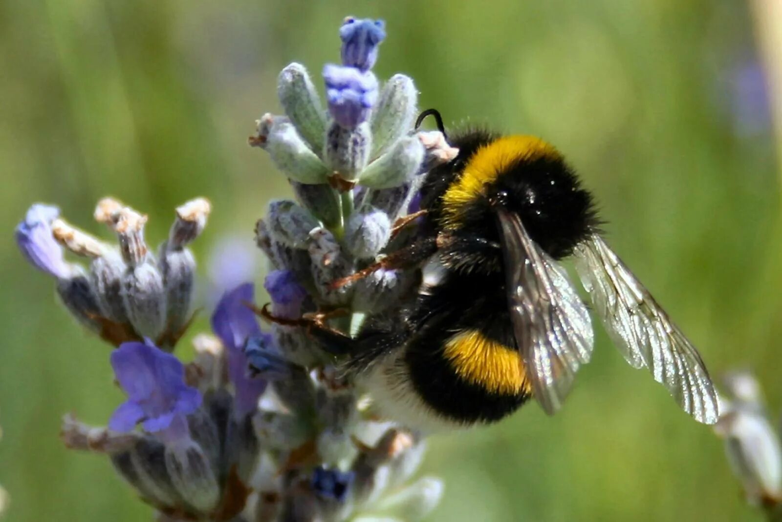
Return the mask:
[(325, 144), (325, 161), (329, 169), (347, 181), (355, 179), (367, 165), (371, 142), (368, 123), (359, 123), (353, 129), (333, 123), (328, 128)]

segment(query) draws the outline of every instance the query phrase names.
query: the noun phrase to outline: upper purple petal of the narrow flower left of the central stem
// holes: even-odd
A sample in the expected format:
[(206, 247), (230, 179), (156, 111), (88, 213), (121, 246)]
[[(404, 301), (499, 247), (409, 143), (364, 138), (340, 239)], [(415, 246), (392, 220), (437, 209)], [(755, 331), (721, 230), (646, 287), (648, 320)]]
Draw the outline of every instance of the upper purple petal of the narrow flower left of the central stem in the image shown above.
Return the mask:
[(253, 283), (224, 293), (212, 314), (212, 330), (228, 350), (239, 350), (246, 339), (260, 335), (255, 314), (247, 307), (253, 304)]

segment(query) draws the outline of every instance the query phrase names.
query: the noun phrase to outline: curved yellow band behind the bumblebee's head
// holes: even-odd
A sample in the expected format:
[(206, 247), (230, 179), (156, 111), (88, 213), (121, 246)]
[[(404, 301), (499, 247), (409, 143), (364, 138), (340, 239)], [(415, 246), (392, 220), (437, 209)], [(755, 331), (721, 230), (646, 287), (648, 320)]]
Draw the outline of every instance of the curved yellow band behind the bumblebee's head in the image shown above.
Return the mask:
[(506, 136), (480, 147), (468, 159), (465, 169), (443, 194), (443, 225), (457, 229), (465, 205), (482, 194), (489, 183), (507, 172), (521, 160), (543, 157), (560, 158), (560, 154), (545, 141), (534, 136)]

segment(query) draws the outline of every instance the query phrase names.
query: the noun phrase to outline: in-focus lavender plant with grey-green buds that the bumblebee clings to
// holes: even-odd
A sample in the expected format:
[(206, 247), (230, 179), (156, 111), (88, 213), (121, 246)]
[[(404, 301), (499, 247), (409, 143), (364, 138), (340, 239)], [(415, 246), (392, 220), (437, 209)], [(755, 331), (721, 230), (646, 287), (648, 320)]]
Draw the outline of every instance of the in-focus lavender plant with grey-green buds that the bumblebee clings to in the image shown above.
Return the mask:
[[(227, 289), (213, 310), (213, 335), (194, 337), (192, 362), (174, 356), (192, 318), (197, 272), (188, 246), (206, 225), (203, 198), (177, 208), (154, 250), (147, 216), (112, 198), (99, 202), (95, 218), (116, 245), (45, 205), (17, 228), (23, 254), (58, 279), (69, 310), (119, 346), (110, 360), (127, 401), (108, 427), (65, 417), (63, 442), (108, 456), (158, 520), (418, 520), (439, 501), (439, 479), (411, 484), (423, 443), (372, 418), (362, 392), (307, 328), (314, 317), (348, 332), (414, 288), (417, 277), (395, 271), (332, 283), (384, 252), (421, 172), (456, 153), (441, 134), (412, 128), (410, 78), (397, 74), (378, 94), (370, 69), (385, 36), (381, 21), (346, 20), (343, 65), (324, 69), (328, 112), (307, 69), (292, 63), (278, 77), (285, 115), (262, 116), (249, 139), (284, 172), (297, 200), (272, 202), (256, 222), (256, 245), (275, 268), (264, 280), (270, 331), (256, 318), (253, 285), (239, 284), (252, 279), (239, 262), (246, 257), (231, 257), (212, 276)], [(88, 268), (66, 263), (63, 247)]]

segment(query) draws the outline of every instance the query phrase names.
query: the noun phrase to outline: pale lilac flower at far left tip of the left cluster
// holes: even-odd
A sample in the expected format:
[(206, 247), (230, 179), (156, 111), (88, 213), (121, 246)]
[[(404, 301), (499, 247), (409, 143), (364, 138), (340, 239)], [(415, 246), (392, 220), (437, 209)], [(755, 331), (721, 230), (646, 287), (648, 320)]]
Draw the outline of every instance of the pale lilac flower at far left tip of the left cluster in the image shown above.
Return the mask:
[(63, 259), (63, 248), (52, 236), (52, 222), (58, 217), (59, 208), (36, 203), (16, 226), (14, 236), (31, 265), (57, 279), (65, 279), (70, 275), (70, 267)]

